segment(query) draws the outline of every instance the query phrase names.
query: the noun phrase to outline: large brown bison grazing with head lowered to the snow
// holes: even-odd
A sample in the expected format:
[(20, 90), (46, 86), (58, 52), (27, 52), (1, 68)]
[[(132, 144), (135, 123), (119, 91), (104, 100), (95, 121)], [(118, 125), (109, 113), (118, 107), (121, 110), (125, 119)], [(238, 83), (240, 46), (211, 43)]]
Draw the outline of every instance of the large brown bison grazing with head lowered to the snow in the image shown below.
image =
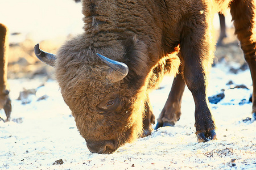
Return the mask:
[(63, 99), (91, 152), (111, 154), (151, 133), (148, 92), (164, 74), (176, 77), (156, 128), (179, 120), (187, 85), (195, 100), (197, 140), (207, 142), (216, 139), (206, 91), (214, 56), (213, 14), (230, 7), (254, 87), (255, 5), (252, 0), (84, 0), (84, 33), (65, 42), (56, 55), (39, 44), (35, 54), (56, 68)]

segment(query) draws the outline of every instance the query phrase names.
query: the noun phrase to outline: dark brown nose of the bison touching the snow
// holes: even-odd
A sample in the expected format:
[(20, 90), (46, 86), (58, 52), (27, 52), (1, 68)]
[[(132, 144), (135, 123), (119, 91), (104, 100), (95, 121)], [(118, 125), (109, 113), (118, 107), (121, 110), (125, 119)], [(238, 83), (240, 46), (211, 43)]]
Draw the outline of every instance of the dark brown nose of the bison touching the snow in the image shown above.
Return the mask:
[(117, 142), (114, 140), (109, 141), (90, 141), (86, 140), (88, 149), (93, 153), (98, 154), (112, 154), (117, 148)]

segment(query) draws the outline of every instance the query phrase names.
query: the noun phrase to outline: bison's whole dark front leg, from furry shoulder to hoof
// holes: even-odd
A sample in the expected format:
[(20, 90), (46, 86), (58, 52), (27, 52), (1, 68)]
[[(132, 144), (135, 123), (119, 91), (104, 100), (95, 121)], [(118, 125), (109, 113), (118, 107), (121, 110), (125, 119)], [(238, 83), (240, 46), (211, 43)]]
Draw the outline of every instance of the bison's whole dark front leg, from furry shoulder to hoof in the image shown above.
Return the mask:
[[(204, 10), (207, 11), (207, 10)], [(195, 126), (197, 141), (215, 139), (215, 125), (207, 98), (207, 70), (213, 58), (214, 45), (210, 42), (207, 14), (196, 15), (195, 21), (187, 21), (180, 42), (183, 59), (183, 75), (195, 101)]]

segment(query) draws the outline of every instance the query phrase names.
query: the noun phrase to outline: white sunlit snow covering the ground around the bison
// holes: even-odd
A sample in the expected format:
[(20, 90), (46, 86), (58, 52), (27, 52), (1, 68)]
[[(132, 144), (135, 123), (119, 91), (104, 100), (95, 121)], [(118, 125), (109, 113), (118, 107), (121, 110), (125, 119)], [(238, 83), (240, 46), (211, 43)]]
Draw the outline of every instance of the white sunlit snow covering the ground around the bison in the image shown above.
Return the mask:
[[(88, 150), (55, 80), (10, 80), (13, 121), (0, 122), (0, 169), (255, 169), (256, 122), (242, 121), (251, 116), (250, 72), (247, 69), (232, 74), (228, 70), (229, 65), (221, 62), (210, 73), (209, 95), (225, 90), (220, 103), (210, 104), (218, 128), (216, 141), (197, 143), (195, 107), (186, 88), (181, 119), (175, 127), (155, 130), (111, 155), (92, 154)], [(226, 85), (230, 80), (234, 84)], [(156, 117), (171, 82), (172, 78), (165, 78), (163, 88), (150, 95)], [(249, 90), (230, 89), (240, 84)], [(29, 104), (16, 100), (23, 87), (37, 88)], [(43, 95), (48, 98), (36, 101)], [(244, 104), (239, 104), (243, 99)], [(3, 112), (1, 116), (4, 117)]]

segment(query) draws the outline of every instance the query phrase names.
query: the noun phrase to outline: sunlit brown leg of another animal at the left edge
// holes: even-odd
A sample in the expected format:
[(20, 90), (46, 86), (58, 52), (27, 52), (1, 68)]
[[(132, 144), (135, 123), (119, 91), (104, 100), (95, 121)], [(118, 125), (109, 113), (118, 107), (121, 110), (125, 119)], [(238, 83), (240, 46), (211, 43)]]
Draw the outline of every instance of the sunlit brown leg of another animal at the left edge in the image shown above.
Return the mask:
[(7, 83), (8, 52), (8, 29), (0, 23), (0, 109), (5, 110), (6, 121), (10, 121), (11, 115), (11, 100)]

